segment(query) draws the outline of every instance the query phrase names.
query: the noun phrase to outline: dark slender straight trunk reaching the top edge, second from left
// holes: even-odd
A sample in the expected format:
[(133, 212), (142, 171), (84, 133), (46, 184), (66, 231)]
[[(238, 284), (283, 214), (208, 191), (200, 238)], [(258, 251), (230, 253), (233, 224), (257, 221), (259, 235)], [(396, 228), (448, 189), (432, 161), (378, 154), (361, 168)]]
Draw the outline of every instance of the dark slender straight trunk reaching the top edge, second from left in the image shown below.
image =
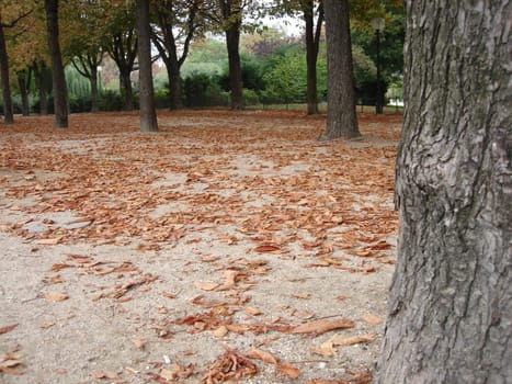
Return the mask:
[(55, 126), (66, 128), (68, 126), (68, 97), (59, 45), (58, 0), (45, 0), (45, 10), (49, 56), (52, 59)]

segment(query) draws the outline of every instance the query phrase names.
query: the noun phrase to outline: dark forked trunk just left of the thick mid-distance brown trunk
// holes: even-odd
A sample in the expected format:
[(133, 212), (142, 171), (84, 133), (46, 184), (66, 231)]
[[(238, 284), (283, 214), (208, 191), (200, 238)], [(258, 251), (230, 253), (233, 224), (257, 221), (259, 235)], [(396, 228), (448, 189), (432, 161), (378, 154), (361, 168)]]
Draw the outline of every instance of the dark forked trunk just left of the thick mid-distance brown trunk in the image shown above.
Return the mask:
[(318, 10), (317, 26), (315, 29), (315, 2), (306, 0), (303, 2), (304, 20), (306, 22), (306, 63), (307, 63), (307, 114), (318, 113), (317, 98), (317, 58), (320, 46), (320, 32), (323, 23), (323, 9), (320, 4)]

